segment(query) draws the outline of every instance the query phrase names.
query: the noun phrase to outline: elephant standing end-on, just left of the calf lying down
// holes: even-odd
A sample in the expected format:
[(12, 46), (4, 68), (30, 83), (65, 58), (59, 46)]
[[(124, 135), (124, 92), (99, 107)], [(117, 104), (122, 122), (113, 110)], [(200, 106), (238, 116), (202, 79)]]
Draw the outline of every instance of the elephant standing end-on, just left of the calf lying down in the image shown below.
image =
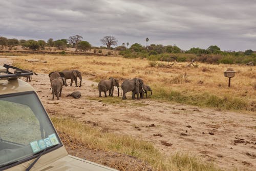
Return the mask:
[(57, 97), (57, 100), (59, 100), (59, 97), (61, 97), (61, 91), (62, 86), (65, 85), (65, 78), (58, 77), (56, 79), (52, 80), (52, 99), (54, 100), (54, 95)]

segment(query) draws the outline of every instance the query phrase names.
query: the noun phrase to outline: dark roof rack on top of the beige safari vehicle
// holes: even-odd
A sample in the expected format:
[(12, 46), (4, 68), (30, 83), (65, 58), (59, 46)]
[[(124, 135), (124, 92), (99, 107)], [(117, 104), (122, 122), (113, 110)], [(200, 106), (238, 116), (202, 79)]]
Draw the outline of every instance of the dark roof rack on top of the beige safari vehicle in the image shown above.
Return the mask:
[[(14, 80), (27, 75), (33, 75), (33, 72), (25, 71), (11, 65), (4, 64), (4, 67), (7, 69), (4, 72), (6, 74), (0, 74), (0, 80)], [(14, 73), (9, 71), (10, 68), (15, 69)]]

